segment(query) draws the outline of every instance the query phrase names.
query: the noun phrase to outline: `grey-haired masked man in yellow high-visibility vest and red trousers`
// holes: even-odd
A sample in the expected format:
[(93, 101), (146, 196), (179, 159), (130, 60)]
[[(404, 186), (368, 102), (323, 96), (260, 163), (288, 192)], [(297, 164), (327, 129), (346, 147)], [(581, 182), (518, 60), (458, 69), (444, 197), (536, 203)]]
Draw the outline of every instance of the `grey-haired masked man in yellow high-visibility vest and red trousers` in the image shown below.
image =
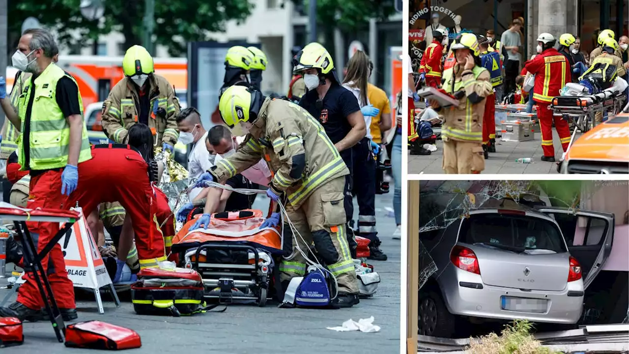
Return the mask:
[[(23, 94), (18, 98), (19, 112), (6, 112), (9, 121), (23, 132), (17, 151), (21, 169), (30, 170), (27, 204), (30, 209), (71, 207), (66, 198), (79, 183), (79, 164), (91, 159), (81, 93), (74, 79), (53, 63), (57, 48), (48, 31), (32, 29), (19, 39), (13, 56), (16, 69), (32, 74), (25, 80)], [(0, 96), (7, 100), (6, 85), (1, 86)], [(42, 251), (59, 230), (58, 222), (26, 224), (38, 251)], [(65, 270), (60, 245), (55, 244), (42, 259), (42, 266), (64, 321), (76, 319), (74, 287)], [(18, 299), (8, 307), (0, 307), (0, 317), (25, 320), (42, 313), (44, 299), (33, 273), (26, 272), (24, 278), (26, 283), (19, 287)]]

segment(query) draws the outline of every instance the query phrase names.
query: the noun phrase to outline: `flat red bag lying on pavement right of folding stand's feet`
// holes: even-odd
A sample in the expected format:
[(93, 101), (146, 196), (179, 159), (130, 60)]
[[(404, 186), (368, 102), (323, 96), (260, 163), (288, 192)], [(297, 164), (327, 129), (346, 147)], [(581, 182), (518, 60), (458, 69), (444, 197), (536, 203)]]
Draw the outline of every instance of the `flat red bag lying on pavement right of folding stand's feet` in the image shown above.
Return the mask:
[(65, 346), (123, 350), (140, 348), (142, 341), (140, 334), (132, 329), (101, 321), (87, 321), (70, 324), (65, 328)]

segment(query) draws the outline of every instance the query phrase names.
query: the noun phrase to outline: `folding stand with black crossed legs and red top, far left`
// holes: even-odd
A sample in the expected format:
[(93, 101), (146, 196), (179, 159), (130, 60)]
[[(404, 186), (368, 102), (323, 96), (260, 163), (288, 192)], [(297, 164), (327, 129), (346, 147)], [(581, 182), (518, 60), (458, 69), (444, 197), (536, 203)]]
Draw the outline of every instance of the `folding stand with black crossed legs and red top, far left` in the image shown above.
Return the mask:
[[(57, 340), (59, 341), (59, 343), (64, 343), (64, 319), (62, 318), (61, 311), (59, 310), (57, 302), (55, 301), (55, 295), (52, 292), (52, 287), (50, 287), (50, 282), (48, 282), (48, 276), (46, 272), (42, 269), (42, 259), (47, 256), (50, 251), (52, 251), (59, 240), (65, 236), (65, 233), (70, 230), (72, 225), (74, 225), (77, 220), (80, 219), (81, 215), (79, 215), (78, 212), (74, 212), (72, 210), (39, 208), (35, 210), (30, 210), (18, 207), (0, 207), (0, 217), (2, 217), (3, 219), (13, 220), (15, 231), (17, 232), (19, 237), (19, 242), (22, 244), (25, 267), (31, 268), (33, 270), (33, 277), (35, 277), (37, 288), (40, 291), (40, 295), (42, 296), (46, 312), (48, 313), (48, 318), (50, 319), (52, 328), (55, 331), (55, 336), (57, 336)], [(37, 248), (35, 246), (35, 243), (33, 242), (33, 237), (28, 231), (26, 221), (59, 223), (63, 222), (65, 224), (64, 226), (60, 227), (57, 234), (55, 234), (55, 236), (46, 244), (46, 246), (42, 249), (40, 253), (33, 254), (36, 253), (36, 251), (33, 252), (33, 250), (36, 250)], [(46, 295), (46, 293), (48, 293), (48, 295)]]

